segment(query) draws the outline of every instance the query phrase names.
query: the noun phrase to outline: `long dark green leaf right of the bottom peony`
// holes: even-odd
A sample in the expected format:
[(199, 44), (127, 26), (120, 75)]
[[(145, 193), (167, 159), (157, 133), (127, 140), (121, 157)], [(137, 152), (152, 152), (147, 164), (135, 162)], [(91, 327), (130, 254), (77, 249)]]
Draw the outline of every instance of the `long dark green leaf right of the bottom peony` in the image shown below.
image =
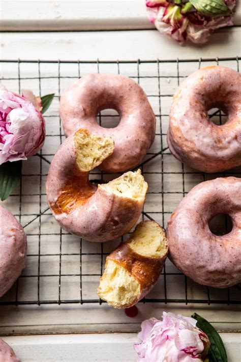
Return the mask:
[(209, 362), (228, 362), (223, 341), (217, 330), (206, 319), (196, 313), (192, 315), (192, 318), (197, 320), (197, 327), (206, 333), (209, 341), (211, 342), (208, 353)]

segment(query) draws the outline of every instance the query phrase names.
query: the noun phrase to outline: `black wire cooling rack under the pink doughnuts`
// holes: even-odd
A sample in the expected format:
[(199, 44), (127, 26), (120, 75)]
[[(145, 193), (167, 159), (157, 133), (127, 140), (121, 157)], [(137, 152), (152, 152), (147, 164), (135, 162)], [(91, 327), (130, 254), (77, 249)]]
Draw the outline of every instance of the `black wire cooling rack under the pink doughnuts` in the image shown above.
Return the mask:
[[(26, 268), (13, 288), (0, 299), (1, 305), (102, 303), (96, 289), (103, 272), (105, 257), (119, 243), (89, 243), (61, 229), (46, 203), (45, 181), (49, 164), (65, 139), (58, 116), (58, 101), (63, 90), (87, 73), (124, 74), (146, 92), (157, 118), (155, 142), (140, 164), (149, 188), (141, 219), (158, 221), (164, 227), (185, 194), (196, 184), (217, 176), (240, 177), (241, 169), (209, 175), (178, 162), (166, 143), (171, 97), (179, 83), (193, 71), (208, 65), (225, 65), (239, 71), (239, 57), (199, 60), (152, 61), (34, 61), (1, 60), (1, 81), (11, 91), (31, 89), (35, 94), (55, 93), (45, 115), (46, 141), (39, 154), (23, 162), (19, 187), (3, 204), (19, 219), (27, 234)], [(219, 109), (210, 110), (210, 119), (225, 122)], [(98, 115), (104, 127), (118, 124), (114, 110)], [(91, 178), (108, 182), (117, 175), (94, 170)], [(228, 217), (217, 217), (210, 228), (213, 232), (230, 230)], [(167, 260), (154, 289), (141, 302), (219, 303), (241, 302), (240, 288), (214, 289), (200, 286), (180, 273)]]

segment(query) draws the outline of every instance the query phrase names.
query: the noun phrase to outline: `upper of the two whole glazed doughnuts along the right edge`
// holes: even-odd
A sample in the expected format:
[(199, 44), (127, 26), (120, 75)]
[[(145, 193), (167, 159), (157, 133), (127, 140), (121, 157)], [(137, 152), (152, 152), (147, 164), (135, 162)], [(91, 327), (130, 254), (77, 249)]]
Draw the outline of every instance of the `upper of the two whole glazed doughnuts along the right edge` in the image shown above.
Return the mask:
[[(207, 111), (227, 115), (221, 126)], [(203, 172), (221, 172), (241, 165), (241, 75), (214, 66), (185, 79), (173, 96), (167, 142), (173, 156)]]

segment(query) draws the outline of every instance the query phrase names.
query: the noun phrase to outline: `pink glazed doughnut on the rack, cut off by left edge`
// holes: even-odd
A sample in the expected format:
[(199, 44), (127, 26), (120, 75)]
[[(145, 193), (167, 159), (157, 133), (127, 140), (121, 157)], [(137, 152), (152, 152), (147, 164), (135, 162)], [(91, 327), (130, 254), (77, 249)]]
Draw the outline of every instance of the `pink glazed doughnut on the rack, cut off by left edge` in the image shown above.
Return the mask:
[(25, 267), (26, 235), (16, 218), (0, 206), (0, 297), (14, 284)]

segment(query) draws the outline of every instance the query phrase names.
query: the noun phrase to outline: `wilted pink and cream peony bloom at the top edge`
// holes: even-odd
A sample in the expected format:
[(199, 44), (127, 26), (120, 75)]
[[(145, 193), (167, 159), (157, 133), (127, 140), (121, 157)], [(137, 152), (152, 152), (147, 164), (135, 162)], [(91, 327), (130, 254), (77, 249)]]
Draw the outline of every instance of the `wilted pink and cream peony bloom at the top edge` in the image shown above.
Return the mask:
[[(233, 10), (236, 0), (224, 0)], [(146, 0), (150, 22), (163, 34), (177, 41), (191, 40), (193, 43), (205, 43), (215, 29), (233, 25), (232, 15), (209, 17), (198, 13), (195, 8), (187, 9), (186, 0)]]

